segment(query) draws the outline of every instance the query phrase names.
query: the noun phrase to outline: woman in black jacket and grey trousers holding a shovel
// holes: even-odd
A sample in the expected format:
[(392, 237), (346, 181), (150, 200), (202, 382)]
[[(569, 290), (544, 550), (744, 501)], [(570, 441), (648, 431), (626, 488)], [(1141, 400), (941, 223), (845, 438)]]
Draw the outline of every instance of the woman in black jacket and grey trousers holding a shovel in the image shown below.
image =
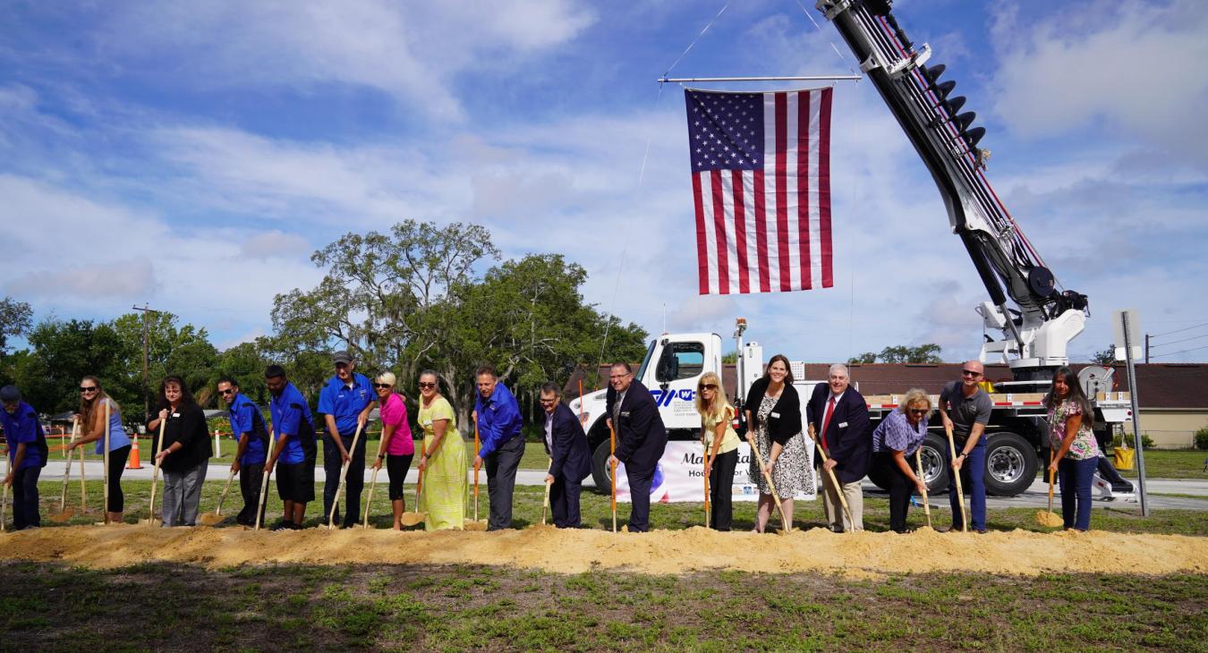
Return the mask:
[(159, 384), (159, 414), (147, 424), (147, 431), (156, 432), (161, 421), (165, 421), (163, 450), (156, 453), (163, 470), (161, 518), (164, 526), (196, 526), (214, 445), (205, 427), (205, 413), (180, 377), (168, 377)]

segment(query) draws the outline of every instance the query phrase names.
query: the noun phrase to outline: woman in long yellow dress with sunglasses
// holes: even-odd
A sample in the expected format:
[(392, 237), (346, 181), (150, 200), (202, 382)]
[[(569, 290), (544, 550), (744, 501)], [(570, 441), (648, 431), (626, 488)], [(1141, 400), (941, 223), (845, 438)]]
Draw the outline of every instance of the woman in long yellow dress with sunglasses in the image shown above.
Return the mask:
[(424, 430), (424, 450), (419, 456), (423, 488), (419, 509), (428, 513), (424, 529), (439, 531), (465, 525), (466, 454), (457, 432), (453, 407), (440, 393), (436, 373), (425, 369), (419, 375), (419, 427)]

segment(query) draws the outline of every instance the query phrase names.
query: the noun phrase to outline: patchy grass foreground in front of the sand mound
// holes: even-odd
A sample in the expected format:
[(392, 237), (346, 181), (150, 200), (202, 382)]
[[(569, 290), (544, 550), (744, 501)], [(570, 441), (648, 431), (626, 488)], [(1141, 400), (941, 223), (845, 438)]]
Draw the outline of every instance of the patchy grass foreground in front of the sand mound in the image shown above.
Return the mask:
[(0, 565), (13, 651), (1204, 651), (1203, 576)]

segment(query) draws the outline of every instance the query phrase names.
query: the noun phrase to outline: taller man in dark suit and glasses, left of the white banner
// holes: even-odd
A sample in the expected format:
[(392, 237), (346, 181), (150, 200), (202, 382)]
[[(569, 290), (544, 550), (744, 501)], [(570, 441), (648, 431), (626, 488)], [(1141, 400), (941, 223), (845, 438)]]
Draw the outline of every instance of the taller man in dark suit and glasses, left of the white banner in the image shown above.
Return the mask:
[(629, 478), (629, 532), (650, 530), (650, 483), (667, 449), (667, 428), (658, 406), (629, 363), (612, 363), (608, 391), (609, 426), (616, 428), (616, 460)]

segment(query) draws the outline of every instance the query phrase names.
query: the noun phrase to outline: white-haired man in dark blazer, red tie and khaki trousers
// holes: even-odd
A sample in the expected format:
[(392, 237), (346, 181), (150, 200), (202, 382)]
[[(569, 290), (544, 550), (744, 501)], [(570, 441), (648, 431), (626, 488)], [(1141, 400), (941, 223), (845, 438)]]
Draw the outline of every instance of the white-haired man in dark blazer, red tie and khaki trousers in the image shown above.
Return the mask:
[[(860, 480), (869, 473), (872, 460), (869, 404), (849, 383), (847, 366), (835, 363), (830, 368), (827, 381), (814, 386), (809, 403), (806, 404), (806, 419), (817, 433), (817, 445), (823, 448), (827, 457), (820, 472), (823, 505), (830, 529), (835, 532), (864, 530), (864, 491), (860, 489)], [(821, 456), (815, 456), (814, 463), (818, 465), (820, 460)], [(838, 488), (831, 483), (826, 470), (835, 472)], [(843, 514), (838, 492), (843, 492), (847, 499), (847, 506), (852, 511), (850, 521)]]

